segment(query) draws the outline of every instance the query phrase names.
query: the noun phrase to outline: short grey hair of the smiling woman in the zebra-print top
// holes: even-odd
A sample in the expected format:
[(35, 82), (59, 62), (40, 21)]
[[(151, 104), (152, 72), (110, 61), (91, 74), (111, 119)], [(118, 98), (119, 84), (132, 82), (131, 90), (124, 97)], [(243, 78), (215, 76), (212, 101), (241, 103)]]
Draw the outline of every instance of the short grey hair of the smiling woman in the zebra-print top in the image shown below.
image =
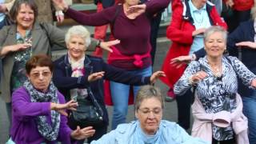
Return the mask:
[(222, 33), (223, 39), (226, 41), (227, 31), (222, 26), (210, 26), (203, 34), (204, 42), (206, 42), (207, 38), (209, 38), (210, 35), (214, 34), (215, 32)]

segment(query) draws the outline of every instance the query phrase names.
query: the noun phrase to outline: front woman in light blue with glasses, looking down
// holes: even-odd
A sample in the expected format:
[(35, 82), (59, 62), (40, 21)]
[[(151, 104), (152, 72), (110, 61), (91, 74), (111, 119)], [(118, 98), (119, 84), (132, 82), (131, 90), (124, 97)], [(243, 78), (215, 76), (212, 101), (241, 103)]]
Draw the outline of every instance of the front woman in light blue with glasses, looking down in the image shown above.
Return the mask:
[(164, 101), (160, 90), (154, 86), (142, 86), (138, 91), (134, 111), (138, 120), (121, 124), (91, 144), (206, 144), (193, 138), (175, 122), (162, 120)]

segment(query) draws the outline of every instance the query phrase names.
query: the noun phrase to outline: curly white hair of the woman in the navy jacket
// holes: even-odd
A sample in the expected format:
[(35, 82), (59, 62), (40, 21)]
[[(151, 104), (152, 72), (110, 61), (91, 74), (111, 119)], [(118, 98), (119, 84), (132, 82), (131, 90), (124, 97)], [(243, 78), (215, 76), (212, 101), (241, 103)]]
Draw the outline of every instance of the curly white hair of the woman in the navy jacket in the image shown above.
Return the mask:
[(72, 26), (67, 30), (65, 35), (65, 42), (70, 42), (70, 38), (74, 35), (81, 36), (86, 42), (86, 47), (90, 46), (90, 32), (84, 26)]

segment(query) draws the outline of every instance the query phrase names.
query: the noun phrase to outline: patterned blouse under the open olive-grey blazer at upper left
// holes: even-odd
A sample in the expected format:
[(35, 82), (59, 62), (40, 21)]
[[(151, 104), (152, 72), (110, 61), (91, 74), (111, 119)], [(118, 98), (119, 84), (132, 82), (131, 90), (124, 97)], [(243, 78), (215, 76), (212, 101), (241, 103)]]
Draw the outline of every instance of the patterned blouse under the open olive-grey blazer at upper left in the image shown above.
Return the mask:
[[(16, 42), (20, 43), (30, 43), (32, 44), (32, 34), (31, 30), (26, 30), (25, 38), (22, 38), (22, 35), (17, 32)], [(32, 55), (32, 47), (26, 48), (26, 50), (18, 50), (14, 52), (14, 67), (10, 79), (10, 90), (18, 89), (18, 87), (23, 86), (23, 83), (26, 81), (26, 61), (30, 59)]]

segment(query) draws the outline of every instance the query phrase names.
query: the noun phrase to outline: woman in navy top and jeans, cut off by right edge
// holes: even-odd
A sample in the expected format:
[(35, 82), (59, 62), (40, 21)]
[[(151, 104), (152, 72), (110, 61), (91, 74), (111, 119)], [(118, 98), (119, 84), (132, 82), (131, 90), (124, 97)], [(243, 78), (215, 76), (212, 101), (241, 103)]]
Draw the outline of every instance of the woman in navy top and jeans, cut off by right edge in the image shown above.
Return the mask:
[[(237, 29), (228, 35), (226, 47), (230, 55), (239, 58), (249, 70), (256, 74), (256, 62), (252, 60), (256, 54), (256, 6), (252, 9), (252, 19), (247, 22), (242, 22)], [(205, 55), (204, 50), (198, 50), (194, 53), (196, 58)], [(190, 56), (181, 56), (174, 58), (173, 62), (189, 62)], [(238, 78), (238, 93), (242, 95), (243, 113), (248, 118), (249, 141), (256, 143), (256, 90), (250, 89), (242, 84), (242, 80)]]

